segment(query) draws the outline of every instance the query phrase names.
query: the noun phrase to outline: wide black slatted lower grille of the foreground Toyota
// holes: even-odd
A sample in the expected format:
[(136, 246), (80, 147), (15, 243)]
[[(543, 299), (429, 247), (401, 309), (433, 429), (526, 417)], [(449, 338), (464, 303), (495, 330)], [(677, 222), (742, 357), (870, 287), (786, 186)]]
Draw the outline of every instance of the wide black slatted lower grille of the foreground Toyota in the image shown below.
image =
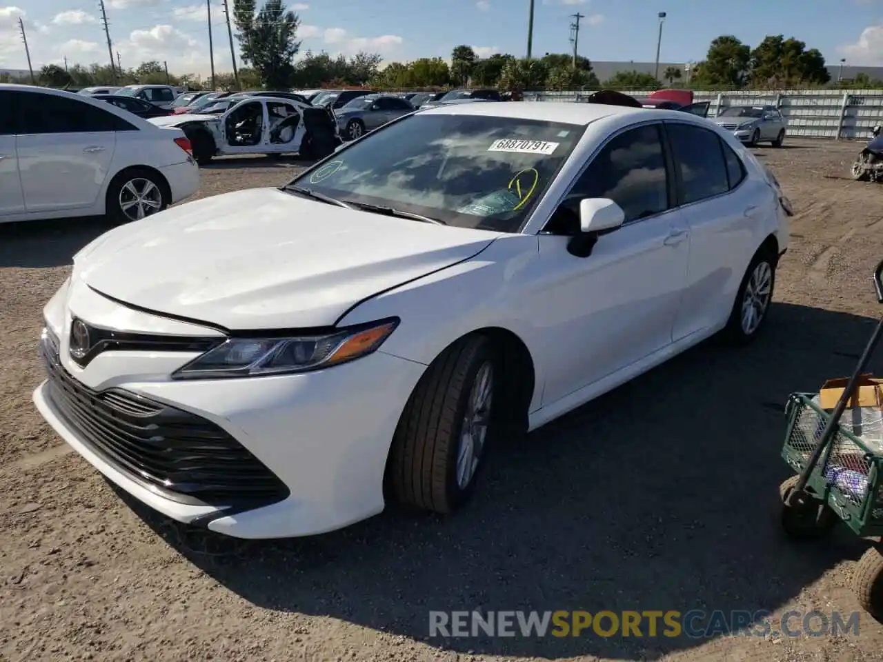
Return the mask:
[(58, 360), (51, 335), (40, 343), (57, 413), (96, 454), (170, 500), (257, 508), (288, 496), (287, 486), (211, 421), (120, 388), (94, 391)]

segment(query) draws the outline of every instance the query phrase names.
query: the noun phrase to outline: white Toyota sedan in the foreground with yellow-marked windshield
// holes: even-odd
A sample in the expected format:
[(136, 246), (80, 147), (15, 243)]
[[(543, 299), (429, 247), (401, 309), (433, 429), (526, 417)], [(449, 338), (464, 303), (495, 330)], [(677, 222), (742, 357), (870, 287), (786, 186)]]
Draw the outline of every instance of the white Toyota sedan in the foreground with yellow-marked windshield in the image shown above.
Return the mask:
[(230, 536), (389, 499), (448, 512), (488, 448), (710, 335), (758, 335), (787, 215), (687, 113), (419, 111), (281, 188), (87, 245), (44, 309), (34, 402), (125, 491)]

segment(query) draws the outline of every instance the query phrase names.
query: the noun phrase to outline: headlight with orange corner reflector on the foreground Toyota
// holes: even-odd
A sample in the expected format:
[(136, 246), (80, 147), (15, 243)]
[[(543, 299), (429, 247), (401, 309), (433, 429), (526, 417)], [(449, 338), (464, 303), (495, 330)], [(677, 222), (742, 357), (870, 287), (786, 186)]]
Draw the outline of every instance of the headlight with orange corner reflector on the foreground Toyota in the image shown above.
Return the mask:
[(178, 380), (309, 372), (364, 357), (377, 350), (399, 320), (379, 320), (328, 334), (229, 338), (172, 374)]

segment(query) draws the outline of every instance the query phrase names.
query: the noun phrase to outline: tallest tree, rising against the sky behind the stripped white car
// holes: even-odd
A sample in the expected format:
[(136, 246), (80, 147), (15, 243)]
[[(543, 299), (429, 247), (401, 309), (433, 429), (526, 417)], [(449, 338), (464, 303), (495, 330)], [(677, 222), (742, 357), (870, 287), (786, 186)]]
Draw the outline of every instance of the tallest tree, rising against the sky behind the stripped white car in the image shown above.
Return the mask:
[(285, 88), (294, 74), (300, 19), (282, 0), (266, 0), (255, 14), (255, 0), (233, 0), (233, 16), (242, 61), (260, 74), (269, 89)]

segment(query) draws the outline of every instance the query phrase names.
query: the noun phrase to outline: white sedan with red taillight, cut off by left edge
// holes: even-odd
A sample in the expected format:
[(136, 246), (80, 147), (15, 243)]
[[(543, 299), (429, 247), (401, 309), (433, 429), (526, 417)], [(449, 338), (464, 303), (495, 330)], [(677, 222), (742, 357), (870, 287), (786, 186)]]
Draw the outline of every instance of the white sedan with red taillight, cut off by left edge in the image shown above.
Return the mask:
[(190, 140), (85, 94), (0, 85), (0, 222), (137, 221), (200, 185)]

